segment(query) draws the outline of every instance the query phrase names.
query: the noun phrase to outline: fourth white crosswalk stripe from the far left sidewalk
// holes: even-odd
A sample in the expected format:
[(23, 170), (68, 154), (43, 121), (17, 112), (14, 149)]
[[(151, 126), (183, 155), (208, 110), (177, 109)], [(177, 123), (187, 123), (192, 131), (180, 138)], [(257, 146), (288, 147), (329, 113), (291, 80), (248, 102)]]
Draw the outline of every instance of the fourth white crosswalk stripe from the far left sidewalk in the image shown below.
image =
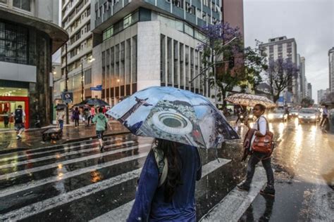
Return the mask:
[[(149, 145), (147, 145), (146, 147), (148, 147), (148, 146)], [(140, 145), (140, 148), (144, 148), (144, 146)], [(121, 158), (121, 159), (116, 159), (116, 160), (113, 160), (113, 161), (110, 161), (110, 162), (105, 162), (103, 164), (88, 166), (88, 167), (85, 167), (85, 168), (82, 168), (82, 169), (77, 169), (77, 170), (74, 170), (74, 171), (70, 171), (70, 172), (68, 172), (66, 174), (63, 174), (61, 176), (51, 176), (49, 178), (44, 178), (44, 179), (39, 180), (39, 181), (32, 181), (30, 183), (14, 185), (10, 188), (7, 188), (6, 190), (0, 190), (0, 197), (6, 197), (6, 196), (12, 195), (16, 192), (22, 192), (24, 190), (29, 190), (29, 189), (32, 189), (32, 188), (36, 188), (38, 186), (45, 185), (47, 183), (54, 183), (56, 181), (61, 181), (61, 180), (64, 180), (66, 178), (71, 178), (73, 176), (86, 174), (87, 172), (90, 172), (90, 171), (102, 169), (102, 168), (109, 167), (109, 166), (114, 166), (114, 165), (117, 165), (117, 164), (121, 164), (123, 162), (128, 162), (128, 161), (131, 161), (131, 160), (135, 160), (135, 159), (140, 159), (142, 157), (146, 157), (148, 153), (149, 152), (142, 152), (139, 155), (132, 155), (130, 157), (124, 157), (124, 158)]]

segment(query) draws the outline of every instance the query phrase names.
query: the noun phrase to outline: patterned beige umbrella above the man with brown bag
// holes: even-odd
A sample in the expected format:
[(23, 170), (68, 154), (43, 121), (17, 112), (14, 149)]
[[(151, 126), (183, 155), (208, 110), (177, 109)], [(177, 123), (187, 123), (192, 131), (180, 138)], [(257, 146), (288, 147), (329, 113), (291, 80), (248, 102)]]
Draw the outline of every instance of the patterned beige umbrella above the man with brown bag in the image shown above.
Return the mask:
[(276, 107), (276, 104), (265, 96), (257, 96), (247, 93), (235, 93), (232, 96), (228, 96), (227, 98), (225, 98), (225, 100), (236, 105), (253, 107), (254, 105), (260, 103), (262, 105), (265, 105), (267, 108)]

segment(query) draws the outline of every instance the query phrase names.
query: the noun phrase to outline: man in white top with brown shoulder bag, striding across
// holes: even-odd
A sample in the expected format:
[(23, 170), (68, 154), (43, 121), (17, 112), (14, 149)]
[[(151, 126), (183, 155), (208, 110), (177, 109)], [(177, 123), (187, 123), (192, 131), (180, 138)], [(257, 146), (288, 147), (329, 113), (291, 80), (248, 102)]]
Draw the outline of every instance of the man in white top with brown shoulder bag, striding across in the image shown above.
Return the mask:
[[(250, 154), (247, 165), (247, 178), (245, 183), (237, 185), (239, 190), (249, 191), (250, 184), (255, 172), (255, 166), (260, 161), (266, 170), (267, 185), (261, 190), (262, 195), (275, 196), (273, 169), (271, 168), (271, 153), (273, 152), (273, 133), (268, 129), (268, 121), (263, 116), (266, 107), (261, 104), (254, 105), (253, 114), (257, 117), (253, 129), (250, 129), (246, 120), (245, 125), (249, 128), (244, 141), (245, 152)], [(250, 134), (250, 135), (249, 135)], [(247, 139), (250, 138), (250, 139)], [(246, 158), (244, 158), (246, 159)]]

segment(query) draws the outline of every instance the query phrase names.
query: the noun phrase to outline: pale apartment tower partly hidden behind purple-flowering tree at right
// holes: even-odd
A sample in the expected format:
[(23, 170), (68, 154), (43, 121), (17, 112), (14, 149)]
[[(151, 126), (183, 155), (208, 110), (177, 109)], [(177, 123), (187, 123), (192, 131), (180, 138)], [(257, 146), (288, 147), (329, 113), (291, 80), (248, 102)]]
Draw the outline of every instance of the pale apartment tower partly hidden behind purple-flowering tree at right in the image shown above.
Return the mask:
[[(277, 37), (269, 39), (268, 43), (261, 44), (259, 48), (266, 53), (268, 63), (271, 60), (283, 58), (284, 60), (290, 60), (297, 65), (297, 44), (294, 38), (287, 39), (287, 37)], [(300, 62), (302, 63), (302, 60)], [(286, 91), (292, 93), (292, 100), (287, 101), (287, 103), (300, 102), (301, 98), (299, 98), (299, 90), (300, 84), (302, 84), (301, 81), (302, 80), (298, 75), (298, 77), (292, 78), (292, 81), (288, 84), (287, 89), (283, 93), (286, 93)]]

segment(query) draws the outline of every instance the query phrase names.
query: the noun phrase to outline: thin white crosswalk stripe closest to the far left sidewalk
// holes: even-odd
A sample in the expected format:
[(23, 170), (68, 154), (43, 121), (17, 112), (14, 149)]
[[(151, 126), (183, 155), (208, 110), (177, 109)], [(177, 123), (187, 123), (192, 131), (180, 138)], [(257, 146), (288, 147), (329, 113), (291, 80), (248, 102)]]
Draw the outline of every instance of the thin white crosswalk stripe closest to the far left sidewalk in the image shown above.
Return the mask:
[[(122, 139), (120, 138), (113, 138), (111, 140), (106, 140), (106, 142), (113, 142), (113, 141), (121, 141)], [(56, 152), (56, 151), (60, 151), (60, 150), (71, 150), (71, 149), (74, 149), (74, 148), (83, 148), (85, 146), (88, 146), (88, 145), (97, 145), (99, 144), (99, 141), (97, 142), (93, 142), (93, 143), (87, 143), (88, 141), (81, 141), (81, 142), (74, 142), (74, 143), (66, 143), (64, 145), (54, 145), (54, 146), (49, 146), (49, 147), (44, 147), (44, 148), (35, 148), (35, 149), (32, 149), (32, 150), (25, 150), (25, 151), (21, 151), (22, 153), (24, 153), (23, 155), (13, 155), (13, 157), (2, 157), (1, 158), (1, 162), (3, 161), (6, 161), (8, 162), (9, 160), (12, 160), (12, 159), (19, 159), (19, 158), (22, 158), (22, 157), (33, 157), (34, 155), (41, 155), (41, 154), (45, 154), (45, 153), (48, 153), (48, 152)], [(87, 144), (80, 144), (80, 145), (73, 145), (73, 144), (77, 144), (77, 143), (87, 143)], [(68, 145), (71, 145), (71, 146), (68, 146)], [(36, 150), (46, 150), (47, 148), (52, 148), (51, 150), (47, 150), (47, 151), (42, 151), (42, 152), (35, 152)], [(29, 153), (30, 151), (34, 151), (34, 152), (31, 152)], [(18, 152), (15, 152), (15, 154), (17, 154)], [(3, 154), (3, 155), (0, 155), (1, 156), (8, 156), (8, 154)]]

